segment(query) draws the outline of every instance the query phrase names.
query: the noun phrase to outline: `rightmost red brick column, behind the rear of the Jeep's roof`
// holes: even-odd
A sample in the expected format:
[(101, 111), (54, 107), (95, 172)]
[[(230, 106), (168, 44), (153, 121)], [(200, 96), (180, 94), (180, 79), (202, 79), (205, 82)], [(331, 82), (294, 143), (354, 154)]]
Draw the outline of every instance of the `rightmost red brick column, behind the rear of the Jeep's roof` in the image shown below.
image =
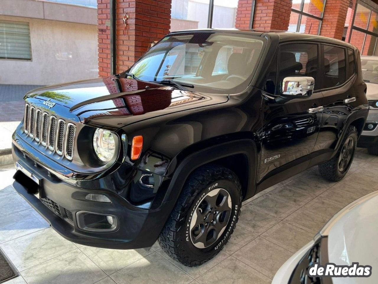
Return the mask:
[(332, 37), (333, 39), (342, 39), (348, 5), (349, 1), (345, 0), (327, 0), (325, 2), (320, 35)]

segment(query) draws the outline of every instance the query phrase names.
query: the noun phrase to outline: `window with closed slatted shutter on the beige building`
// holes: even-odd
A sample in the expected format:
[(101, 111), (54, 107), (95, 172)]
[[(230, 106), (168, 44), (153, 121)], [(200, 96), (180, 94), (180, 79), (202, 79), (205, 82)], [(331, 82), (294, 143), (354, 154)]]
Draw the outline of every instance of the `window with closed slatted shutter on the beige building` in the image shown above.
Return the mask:
[(0, 20), (0, 58), (31, 60), (29, 23)]

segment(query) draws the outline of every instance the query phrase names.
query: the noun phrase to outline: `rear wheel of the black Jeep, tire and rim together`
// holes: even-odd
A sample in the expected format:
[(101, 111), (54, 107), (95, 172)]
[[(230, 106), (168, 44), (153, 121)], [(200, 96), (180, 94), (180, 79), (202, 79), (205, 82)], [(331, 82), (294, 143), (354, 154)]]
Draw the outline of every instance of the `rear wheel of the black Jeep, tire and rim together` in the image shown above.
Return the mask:
[(348, 172), (357, 147), (357, 129), (350, 126), (341, 142), (338, 153), (327, 162), (318, 166), (319, 173), (330, 181), (339, 181)]

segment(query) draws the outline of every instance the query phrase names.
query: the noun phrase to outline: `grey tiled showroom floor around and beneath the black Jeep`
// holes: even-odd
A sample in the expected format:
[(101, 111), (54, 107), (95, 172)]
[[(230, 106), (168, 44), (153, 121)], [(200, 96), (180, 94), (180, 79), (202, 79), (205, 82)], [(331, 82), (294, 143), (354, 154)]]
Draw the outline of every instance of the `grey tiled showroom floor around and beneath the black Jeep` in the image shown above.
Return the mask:
[(6, 284), (269, 284), (339, 209), (378, 189), (378, 157), (363, 149), (340, 182), (325, 181), (316, 167), (303, 171), (243, 202), (224, 250), (200, 267), (185, 267), (157, 244), (149, 252), (108, 250), (63, 239), (15, 193), (13, 172), (0, 170), (0, 247), (21, 276)]

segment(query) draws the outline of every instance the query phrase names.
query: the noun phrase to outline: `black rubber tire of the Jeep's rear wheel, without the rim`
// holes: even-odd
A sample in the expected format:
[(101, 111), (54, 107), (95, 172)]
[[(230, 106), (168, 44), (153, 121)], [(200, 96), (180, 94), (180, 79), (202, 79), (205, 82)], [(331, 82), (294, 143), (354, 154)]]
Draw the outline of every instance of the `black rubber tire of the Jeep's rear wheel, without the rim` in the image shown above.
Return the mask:
[[(342, 171), (340, 171), (338, 167), (340, 153), (341, 153), (341, 150), (345, 141), (349, 139), (349, 137), (352, 137), (353, 139), (353, 143), (354, 143), (353, 153), (347, 167), (345, 167)], [(318, 165), (318, 170), (321, 176), (324, 177), (325, 179), (328, 179), (329, 181), (341, 180), (345, 176), (345, 174), (348, 172), (350, 165), (353, 162), (353, 158), (356, 153), (356, 147), (357, 147), (357, 129), (354, 126), (349, 126), (349, 128), (347, 129), (347, 133), (345, 134), (345, 137), (341, 142), (338, 153), (332, 159), (328, 160), (327, 162), (324, 162), (323, 164)]]

